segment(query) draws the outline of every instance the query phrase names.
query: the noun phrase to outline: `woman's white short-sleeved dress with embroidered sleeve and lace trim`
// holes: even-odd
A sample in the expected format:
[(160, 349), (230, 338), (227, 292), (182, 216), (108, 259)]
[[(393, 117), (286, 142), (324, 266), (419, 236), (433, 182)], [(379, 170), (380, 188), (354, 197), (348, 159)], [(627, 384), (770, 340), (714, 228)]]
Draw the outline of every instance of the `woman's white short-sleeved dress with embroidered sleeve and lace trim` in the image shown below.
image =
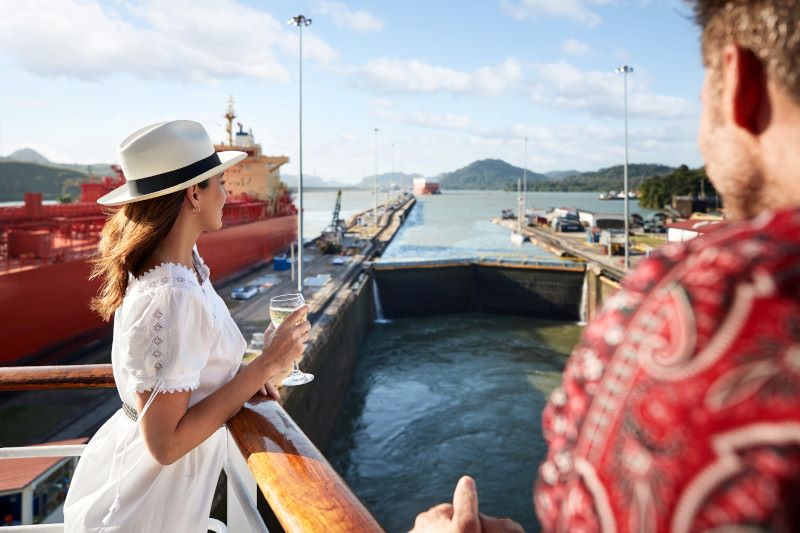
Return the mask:
[[(208, 280), (162, 264), (130, 283), (114, 314), (111, 359), (120, 399), (136, 391), (192, 391), (189, 406), (231, 380), (246, 342)], [(144, 414), (149, 416), (145, 410)], [(205, 532), (226, 458), (225, 429), (171, 465), (147, 450), (137, 422), (122, 409), (92, 437), (64, 503), (67, 533)]]

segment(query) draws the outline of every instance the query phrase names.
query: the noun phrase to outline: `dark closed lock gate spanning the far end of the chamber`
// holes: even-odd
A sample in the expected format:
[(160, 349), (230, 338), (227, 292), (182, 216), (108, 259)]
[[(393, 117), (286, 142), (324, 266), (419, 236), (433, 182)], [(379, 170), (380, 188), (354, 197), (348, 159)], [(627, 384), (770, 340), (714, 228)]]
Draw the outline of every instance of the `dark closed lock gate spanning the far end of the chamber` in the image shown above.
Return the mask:
[(471, 264), (382, 268), (375, 276), (387, 318), (482, 311), (578, 320), (584, 273)]

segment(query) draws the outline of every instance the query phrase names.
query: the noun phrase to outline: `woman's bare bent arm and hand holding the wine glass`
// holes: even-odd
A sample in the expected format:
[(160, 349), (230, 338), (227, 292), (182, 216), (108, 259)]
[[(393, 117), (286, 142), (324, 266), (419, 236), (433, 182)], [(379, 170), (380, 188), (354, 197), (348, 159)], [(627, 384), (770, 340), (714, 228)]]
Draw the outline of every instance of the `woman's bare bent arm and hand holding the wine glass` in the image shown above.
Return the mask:
[[(161, 464), (172, 464), (197, 447), (253, 397), (265, 383), (291, 366), (302, 355), (311, 324), (308, 307), (295, 309), (271, 335), (265, 334), (261, 355), (234, 378), (188, 408), (191, 392), (159, 394), (142, 418), (141, 430), (151, 455)], [(150, 392), (137, 393), (137, 411), (144, 408)]]

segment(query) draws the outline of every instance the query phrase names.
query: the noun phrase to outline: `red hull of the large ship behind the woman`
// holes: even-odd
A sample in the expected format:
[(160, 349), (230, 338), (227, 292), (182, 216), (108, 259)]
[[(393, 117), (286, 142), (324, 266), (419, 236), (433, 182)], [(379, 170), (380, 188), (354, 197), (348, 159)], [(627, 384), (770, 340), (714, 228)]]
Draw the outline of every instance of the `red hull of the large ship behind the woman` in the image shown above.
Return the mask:
[[(221, 282), (270, 261), (297, 237), (294, 215), (203, 234), (198, 249)], [(0, 366), (63, 362), (80, 346), (111, 333), (89, 309), (98, 280), (86, 259), (0, 275)]]

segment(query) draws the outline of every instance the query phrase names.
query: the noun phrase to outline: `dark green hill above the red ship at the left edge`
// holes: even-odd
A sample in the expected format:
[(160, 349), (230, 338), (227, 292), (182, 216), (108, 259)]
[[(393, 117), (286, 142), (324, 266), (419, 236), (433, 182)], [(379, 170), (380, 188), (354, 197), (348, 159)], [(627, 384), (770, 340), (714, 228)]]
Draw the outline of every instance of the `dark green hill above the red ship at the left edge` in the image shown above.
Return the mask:
[(40, 192), (45, 200), (76, 194), (76, 182), (86, 175), (73, 170), (19, 161), (0, 161), (0, 202), (22, 201), (26, 192)]

